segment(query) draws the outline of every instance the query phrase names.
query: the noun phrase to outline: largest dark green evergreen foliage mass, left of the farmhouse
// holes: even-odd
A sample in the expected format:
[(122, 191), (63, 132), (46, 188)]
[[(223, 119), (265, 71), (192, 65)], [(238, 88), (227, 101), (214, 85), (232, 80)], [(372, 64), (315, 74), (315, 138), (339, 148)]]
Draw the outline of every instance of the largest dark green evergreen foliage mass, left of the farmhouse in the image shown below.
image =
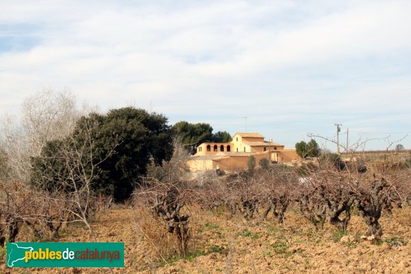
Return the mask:
[[(117, 200), (126, 199), (140, 176), (146, 174), (150, 162), (160, 165), (173, 155), (173, 130), (167, 122), (162, 114), (132, 107), (83, 116), (71, 136), (48, 142), (40, 156), (32, 159), (32, 184), (50, 188), (58, 177), (64, 178), (60, 176), (66, 172), (61, 161), (66, 159), (61, 151), (78, 151), (82, 147), (76, 145), (84, 145), (88, 151), (82, 153), (92, 155), (90, 161), (84, 162), (88, 165), (84, 171), (98, 169), (92, 184), (94, 190), (112, 194)], [(45, 179), (45, 173), (52, 173), (54, 179)]]

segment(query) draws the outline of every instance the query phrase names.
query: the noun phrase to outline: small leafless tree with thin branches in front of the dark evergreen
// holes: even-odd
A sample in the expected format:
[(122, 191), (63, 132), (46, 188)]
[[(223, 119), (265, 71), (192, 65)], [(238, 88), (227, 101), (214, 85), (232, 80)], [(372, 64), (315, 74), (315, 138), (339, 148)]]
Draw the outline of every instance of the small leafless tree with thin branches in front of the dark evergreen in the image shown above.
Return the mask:
[(96, 239), (88, 221), (97, 206), (92, 184), (99, 177), (99, 164), (114, 153), (117, 144), (110, 145), (105, 158), (97, 158), (93, 134), (99, 127), (99, 121), (92, 116), (83, 117), (79, 124), (81, 127), (75, 129), (76, 138), (71, 134), (63, 141), (55, 142), (53, 155), (40, 153), (34, 158), (32, 184), (52, 192), (64, 192), (64, 202), (70, 204), (64, 210), (73, 214), (73, 221), (82, 221)]

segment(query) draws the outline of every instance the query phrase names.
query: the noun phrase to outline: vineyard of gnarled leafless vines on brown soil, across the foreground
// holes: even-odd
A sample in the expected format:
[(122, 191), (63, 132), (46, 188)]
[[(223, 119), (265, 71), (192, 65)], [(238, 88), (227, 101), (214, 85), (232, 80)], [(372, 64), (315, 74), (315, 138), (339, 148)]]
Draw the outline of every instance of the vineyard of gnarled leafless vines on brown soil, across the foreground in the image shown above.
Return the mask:
[[(410, 271), (406, 163), (321, 158), (193, 179), (182, 154), (177, 149), (170, 162), (150, 171), (124, 205), (104, 201), (102, 208), (93, 198), (84, 210), (75, 197), (64, 197), (62, 207), (53, 205), (62, 197), (20, 192), (13, 211), (2, 215), (3, 237), (124, 241), (125, 269), (114, 273)], [(39, 212), (33, 205), (41, 214), (31, 213)], [(95, 273), (75, 271), (66, 273)]]

